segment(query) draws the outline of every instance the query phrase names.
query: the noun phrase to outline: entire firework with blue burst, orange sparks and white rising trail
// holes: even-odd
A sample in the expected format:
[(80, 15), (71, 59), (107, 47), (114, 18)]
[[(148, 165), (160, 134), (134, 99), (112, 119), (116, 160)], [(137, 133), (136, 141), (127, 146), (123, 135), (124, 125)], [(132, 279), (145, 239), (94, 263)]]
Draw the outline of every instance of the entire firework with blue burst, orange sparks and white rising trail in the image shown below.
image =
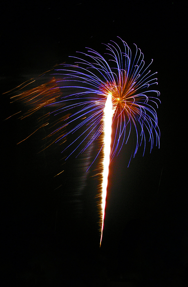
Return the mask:
[[(160, 138), (155, 110), (160, 102), (160, 93), (150, 88), (157, 84), (156, 73), (151, 73), (149, 69), (152, 61), (145, 66), (143, 53), (136, 45), (136, 53), (132, 57), (130, 48), (121, 39), (120, 46), (113, 41), (105, 46), (106, 59), (93, 49), (88, 49), (87, 53), (78, 52), (80, 57), (73, 57), (75, 65), (62, 64), (54, 69), (56, 80), (53, 78), (47, 84), (13, 97), (14, 101), (29, 104), (30, 108), (21, 119), (46, 106), (55, 107), (42, 117), (38, 129), (48, 124), (49, 115), (58, 118), (46, 136), (49, 142), (44, 148), (71, 138), (63, 148), (68, 153), (66, 159), (74, 152), (76, 156), (85, 152), (93, 141), (99, 139), (101, 146), (87, 170), (102, 154), (99, 167), (102, 170), (99, 195), (101, 240), (110, 160), (119, 154), (123, 143), (127, 143), (131, 131), (136, 136), (133, 157), (142, 143), (144, 155), (146, 133), (149, 135), (150, 151), (154, 142), (159, 146)], [(69, 130), (65, 131), (67, 125)], [(112, 140), (111, 126), (115, 127)], [(55, 139), (50, 140), (52, 135)]]

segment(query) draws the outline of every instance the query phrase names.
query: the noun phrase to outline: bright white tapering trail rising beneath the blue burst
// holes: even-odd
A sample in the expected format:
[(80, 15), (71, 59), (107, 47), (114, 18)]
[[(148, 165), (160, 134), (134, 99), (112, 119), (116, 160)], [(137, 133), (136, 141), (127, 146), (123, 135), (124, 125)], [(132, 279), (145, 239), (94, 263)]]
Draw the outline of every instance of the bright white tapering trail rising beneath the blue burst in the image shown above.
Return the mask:
[[(112, 95), (108, 94), (107, 100), (104, 108), (104, 158), (103, 158), (103, 173), (102, 173), (102, 202), (101, 202), (101, 211), (102, 211), (102, 227), (101, 227), (101, 241), (103, 235), (103, 225), (104, 225), (104, 211), (106, 203), (106, 189), (108, 183), (108, 170), (110, 162), (110, 144), (111, 144), (111, 124), (114, 109), (112, 107)], [(100, 246), (101, 246), (100, 241)]]

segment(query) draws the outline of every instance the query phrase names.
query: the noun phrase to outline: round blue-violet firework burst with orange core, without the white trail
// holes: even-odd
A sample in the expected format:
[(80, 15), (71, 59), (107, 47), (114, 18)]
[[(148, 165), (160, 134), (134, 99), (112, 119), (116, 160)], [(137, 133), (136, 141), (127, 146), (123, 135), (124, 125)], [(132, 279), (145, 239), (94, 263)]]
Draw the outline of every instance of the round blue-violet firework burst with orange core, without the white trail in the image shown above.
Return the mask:
[[(62, 101), (66, 103), (71, 99), (71, 104), (60, 109), (59, 112), (61, 113), (63, 110), (70, 112), (80, 106), (79, 111), (70, 116), (69, 122), (76, 122), (78, 119), (82, 119), (82, 121), (68, 133), (73, 133), (81, 129), (82, 126), (87, 127), (88, 125), (82, 132), (81, 142), (87, 142), (83, 150), (103, 131), (103, 111), (107, 95), (111, 94), (113, 121), (116, 121), (111, 158), (120, 152), (125, 139), (127, 142), (132, 127), (136, 130), (136, 146), (133, 156), (143, 141), (145, 150), (145, 131), (149, 133), (151, 149), (154, 137), (156, 137), (156, 145), (159, 145), (160, 137), (156, 110), (152, 106), (154, 104), (157, 107), (157, 101), (159, 101), (157, 97), (160, 93), (150, 89), (150, 86), (157, 84), (156, 73), (151, 73), (149, 70), (152, 61), (145, 67), (144, 56), (140, 49), (136, 47), (136, 55), (132, 57), (126, 42), (121, 40), (121, 44), (123, 50), (113, 41), (111, 44), (105, 45), (107, 57), (110, 58), (108, 62), (99, 53), (89, 49), (87, 54), (79, 52), (84, 59), (74, 57), (77, 59), (75, 65), (64, 64), (62, 69), (56, 70), (57, 74), (66, 75), (61, 88), (76, 88), (74, 94), (69, 94)], [(68, 86), (64, 86), (66, 82), (68, 82)], [(73, 100), (76, 101), (75, 104), (72, 102)], [(127, 133), (126, 137), (125, 133)], [(89, 139), (86, 141), (88, 137)], [(75, 139), (78, 142), (75, 149), (81, 145), (80, 138), (81, 135)]]

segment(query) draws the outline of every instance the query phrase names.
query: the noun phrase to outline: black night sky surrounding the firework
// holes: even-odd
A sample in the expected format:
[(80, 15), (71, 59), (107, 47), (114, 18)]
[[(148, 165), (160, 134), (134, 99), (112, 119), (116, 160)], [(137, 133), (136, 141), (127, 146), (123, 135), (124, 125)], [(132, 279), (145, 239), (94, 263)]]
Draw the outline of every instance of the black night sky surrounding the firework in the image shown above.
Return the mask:
[[(181, 1), (15, 2), (1, 6), (3, 286), (186, 286), (185, 7)], [(97, 162), (85, 179), (76, 155), (64, 162), (62, 146), (38, 153), (42, 129), (17, 145), (36, 129), (38, 115), (4, 121), (23, 106), (3, 93), (54, 65), (72, 64), (69, 56), (85, 47), (102, 54), (101, 43), (117, 36), (132, 53), (135, 43), (158, 72), (160, 149), (150, 154), (148, 144), (142, 157), (141, 147), (127, 168), (130, 141), (113, 158), (99, 249)], [(64, 172), (54, 177), (62, 164)]]

